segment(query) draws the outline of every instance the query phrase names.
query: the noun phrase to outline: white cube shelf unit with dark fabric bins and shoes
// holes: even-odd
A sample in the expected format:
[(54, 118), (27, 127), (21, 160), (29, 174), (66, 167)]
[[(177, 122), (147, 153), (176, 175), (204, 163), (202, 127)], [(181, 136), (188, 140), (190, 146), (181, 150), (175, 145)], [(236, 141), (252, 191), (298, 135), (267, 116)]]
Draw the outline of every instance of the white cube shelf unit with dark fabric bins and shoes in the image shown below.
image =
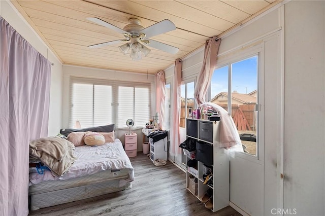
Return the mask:
[[(220, 124), (220, 121), (186, 119), (186, 136), (196, 142), (196, 159), (186, 160), (186, 188), (201, 201), (212, 190), (213, 212), (229, 205), (229, 159), (220, 148)], [(209, 184), (204, 184), (204, 175), (209, 170), (212, 178)]]

